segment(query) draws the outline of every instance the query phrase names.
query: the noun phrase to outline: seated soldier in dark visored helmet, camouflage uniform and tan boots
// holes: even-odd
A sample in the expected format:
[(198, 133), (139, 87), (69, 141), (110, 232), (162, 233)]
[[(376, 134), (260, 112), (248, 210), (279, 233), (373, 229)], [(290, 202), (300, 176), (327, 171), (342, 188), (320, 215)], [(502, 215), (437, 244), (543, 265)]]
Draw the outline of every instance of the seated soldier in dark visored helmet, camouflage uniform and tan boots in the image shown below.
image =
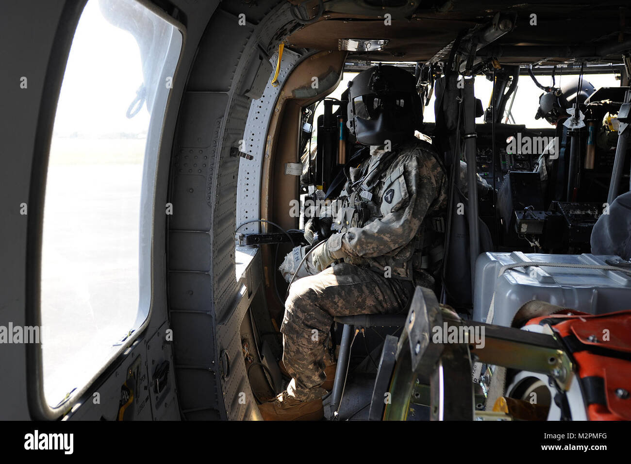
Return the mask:
[[(442, 259), (432, 260), (430, 250), (444, 240), (432, 225), (444, 217), (448, 179), (432, 145), (414, 136), (422, 107), (413, 75), (374, 66), (349, 86), (348, 127), (358, 143), (370, 145), (371, 156), (350, 169), (332, 218), (337, 233), (312, 249), (307, 271), (297, 277), (314, 275), (289, 289), (281, 333), (292, 380), (259, 405), (266, 420), (322, 419), (324, 370), (334, 362), (327, 350), (333, 317), (406, 311), (416, 285), (434, 287)], [(286, 280), (305, 248), (286, 256)]]

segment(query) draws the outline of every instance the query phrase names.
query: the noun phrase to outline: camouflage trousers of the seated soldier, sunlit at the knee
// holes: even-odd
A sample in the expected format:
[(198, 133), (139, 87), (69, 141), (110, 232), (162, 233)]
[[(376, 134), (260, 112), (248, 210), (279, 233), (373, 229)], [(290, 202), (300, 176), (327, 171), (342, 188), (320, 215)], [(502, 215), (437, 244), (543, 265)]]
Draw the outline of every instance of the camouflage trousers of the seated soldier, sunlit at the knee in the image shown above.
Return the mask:
[(319, 386), (326, 379), (325, 361), (333, 361), (327, 344), (334, 316), (396, 314), (406, 309), (413, 290), (412, 282), (348, 263), (294, 282), (280, 330), (283, 364), (292, 376), (287, 393), (300, 401), (326, 393)]

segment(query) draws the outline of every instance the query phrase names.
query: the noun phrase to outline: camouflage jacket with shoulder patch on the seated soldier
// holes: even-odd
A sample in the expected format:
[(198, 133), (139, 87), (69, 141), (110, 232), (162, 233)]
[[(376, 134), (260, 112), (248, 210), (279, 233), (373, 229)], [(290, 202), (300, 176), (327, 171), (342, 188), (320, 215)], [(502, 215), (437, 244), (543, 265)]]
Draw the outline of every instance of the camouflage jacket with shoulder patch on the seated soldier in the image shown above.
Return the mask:
[[(412, 280), (422, 253), (437, 242), (432, 220), (447, 208), (447, 175), (432, 146), (416, 138), (392, 152), (377, 150), (334, 202), (333, 234), (324, 246), (335, 259)], [(441, 235), (442, 236), (442, 235)], [(427, 261), (427, 259), (426, 259)]]

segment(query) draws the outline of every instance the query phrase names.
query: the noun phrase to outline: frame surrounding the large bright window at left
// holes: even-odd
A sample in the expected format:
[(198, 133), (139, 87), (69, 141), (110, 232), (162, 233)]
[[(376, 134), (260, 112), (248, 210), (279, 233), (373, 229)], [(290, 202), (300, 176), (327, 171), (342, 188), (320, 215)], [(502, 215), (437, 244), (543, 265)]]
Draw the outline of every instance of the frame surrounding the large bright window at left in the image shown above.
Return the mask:
[[(47, 178), (48, 171), (48, 159), (50, 152), (50, 142), (52, 140), (52, 130), (54, 128), (54, 120), (56, 116), (56, 107), (57, 102), (59, 100), (59, 95), (61, 93), (61, 86), (64, 80), (64, 75), (66, 71), (66, 63), (68, 62), (68, 57), (71, 51), (71, 47), (74, 40), (74, 34), (76, 32), (76, 28), (78, 27), (78, 23), (80, 21), (81, 15), (83, 15), (83, 10), (85, 9), (86, 4), (89, 0), (83, 0), (80, 4), (73, 4), (69, 2), (64, 6), (64, 10), (62, 12), (62, 17), (59, 20), (59, 27), (57, 28), (55, 40), (52, 44), (52, 54), (51, 59), (49, 61), (49, 67), (47, 69), (47, 73), (45, 76), (45, 83), (50, 89), (49, 92), (52, 93), (53, 90), (56, 92), (54, 96), (46, 101), (46, 98), (42, 98), (42, 110), (41, 113), (45, 114), (46, 112), (52, 118), (52, 124), (42, 119), (42, 114), (40, 114), (40, 121), (38, 121), (38, 135), (44, 136), (44, 146), (40, 147), (40, 159), (43, 161), (39, 166), (33, 167), (33, 175), (31, 179), (32, 184), (32, 192), (30, 194), (31, 198), (36, 198), (36, 201), (29, 201), (30, 204), (39, 203), (39, 205), (44, 204), (44, 196), (45, 196), (45, 179)], [(98, 0), (92, 0), (98, 1)], [(177, 64), (175, 66), (173, 80), (177, 78), (179, 73), (180, 64), (182, 61), (182, 54), (184, 53), (184, 49), (186, 46), (186, 28), (182, 23), (175, 20), (172, 16), (167, 15), (165, 11), (155, 6), (155, 4), (151, 3), (149, 0), (134, 0), (136, 3), (141, 4), (145, 8), (149, 9), (151, 12), (155, 13), (155, 15), (159, 16), (163, 20), (167, 21), (179, 30), (182, 35), (182, 42), (180, 47), (179, 56), (177, 57)], [(165, 87), (166, 88), (166, 87)], [(161, 115), (162, 125), (160, 126), (160, 130), (151, 131), (151, 124), (153, 124), (154, 114), (152, 112), (150, 118), (149, 125), (149, 133), (147, 138), (147, 143), (145, 146), (145, 155), (143, 158), (143, 166), (146, 161), (146, 150), (150, 145), (155, 146), (156, 150), (156, 158), (155, 164), (153, 166), (152, 172), (154, 173), (153, 178), (151, 178), (151, 193), (155, 193), (155, 169), (158, 164), (158, 154), (160, 152), (160, 145), (162, 143), (162, 134), (167, 114), (167, 109), (170, 104), (170, 100), (172, 98), (172, 88), (168, 88), (168, 95), (165, 104), (165, 112)], [(46, 116), (48, 116), (46, 115)], [(42, 127), (44, 126), (44, 127)], [(45, 132), (45, 134), (41, 134)], [(151, 139), (149, 138), (151, 133)], [(37, 153), (37, 143), (36, 143), (36, 153)], [(78, 406), (78, 400), (83, 396), (88, 389), (107, 371), (117, 363), (117, 360), (120, 360), (124, 355), (128, 354), (131, 349), (133, 349), (133, 345), (136, 344), (136, 340), (143, 333), (143, 331), (149, 326), (151, 321), (151, 314), (153, 309), (153, 287), (154, 287), (154, 270), (153, 270), (153, 213), (155, 212), (156, 206), (154, 205), (153, 195), (151, 201), (147, 207), (143, 206), (143, 198), (146, 194), (147, 187), (145, 186), (146, 177), (146, 167), (143, 167), (143, 186), (141, 193), (141, 205), (140, 205), (140, 213), (139, 220), (141, 220), (139, 235), (145, 231), (149, 231), (151, 234), (149, 240), (149, 250), (148, 250), (148, 260), (149, 260), (149, 268), (145, 270), (145, 278), (149, 282), (149, 298), (146, 301), (147, 306), (144, 311), (141, 307), (140, 302), (143, 301), (143, 295), (139, 294), (139, 308), (138, 308), (138, 316), (144, 314), (143, 323), (139, 324), (134, 333), (129, 336), (122, 344), (114, 351), (112, 351), (112, 355), (110, 355), (109, 359), (103, 366), (98, 369), (98, 371), (91, 376), (89, 381), (85, 383), (85, 385), (81, 386), (81, 388), (77, 388), (74, 390), (68, 398), (59, 405), (52, 407), (47, 402), (47, 398), (45, 398), (44, 394), (44, 369), (43, 369), (43, 357), (42, 357), (42, 345), (40, 343), (28, 343), (27, 346), (27, 396), (28, 396), (28, 405), (30, 413), (33, 419), (40, 420), (54, 420), (58, 419), (62, 415), (65, 415), (71, 410), (74, 410), (74, 406)], [(44, 181), (44, 182), (42, 182)], [(34, 187), (34, 188), (33, 188)], [(149, 212), (150, 214), (147, 214)], [(29, 215), (29, 225), (28, 225), (28, 242), (29, 242), (29, 251), (27, 256), (28, 270), (27, 270), (27, 278), (29, 282), (29, 291), (27, 292), (27, 325), (30, 326), (41, 326), (41, 305), (40, 305), (40, 292), (41, 292), (41, 262), (42, 262), (42, 232), (44, 228), (44, 208), (39, 208), (37, 215)], [(140, 250), (141, 256), (144, 254), (142, 250)], [(139, 262), (139, 269), (141, 268), (142, 263)], [(143, 285), (143, 275), (139, 276), (139, 285), (142, 287)], [(138, 318), (136, 319), (136, 323), (138, 323)]]

